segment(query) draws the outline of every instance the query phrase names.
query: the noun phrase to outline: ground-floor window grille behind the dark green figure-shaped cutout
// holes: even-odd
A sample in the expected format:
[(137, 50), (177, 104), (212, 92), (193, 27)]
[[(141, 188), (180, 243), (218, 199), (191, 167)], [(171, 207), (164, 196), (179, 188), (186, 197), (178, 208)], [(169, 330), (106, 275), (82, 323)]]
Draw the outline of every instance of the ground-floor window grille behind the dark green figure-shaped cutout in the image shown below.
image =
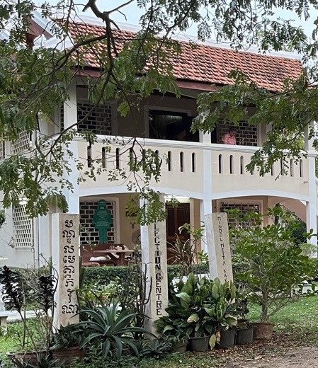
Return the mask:
[[(108, 243), (115, 243), (115, 202), (107, 201), (107, 209), (113, 217), (113, 226), (108, 229)], [(97, 208), (97, 202), (80, 202), (79, 203), (79, 223), (81, 225), (81, 244), (98, 244), (98, 231), (93, 226), (93, 214)]]

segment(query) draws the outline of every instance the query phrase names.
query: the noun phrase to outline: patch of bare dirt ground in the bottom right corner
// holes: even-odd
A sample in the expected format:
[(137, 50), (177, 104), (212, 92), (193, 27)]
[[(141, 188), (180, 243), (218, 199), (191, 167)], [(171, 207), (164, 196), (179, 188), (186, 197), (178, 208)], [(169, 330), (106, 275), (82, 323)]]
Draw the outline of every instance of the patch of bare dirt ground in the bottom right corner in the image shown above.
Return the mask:
[(282, 352), (279, 356), (256, 356), (254, 359), (246, 359), (230, 362), (222, 365), (222, 368), (318, 368), (317, 347), (297, 347)]

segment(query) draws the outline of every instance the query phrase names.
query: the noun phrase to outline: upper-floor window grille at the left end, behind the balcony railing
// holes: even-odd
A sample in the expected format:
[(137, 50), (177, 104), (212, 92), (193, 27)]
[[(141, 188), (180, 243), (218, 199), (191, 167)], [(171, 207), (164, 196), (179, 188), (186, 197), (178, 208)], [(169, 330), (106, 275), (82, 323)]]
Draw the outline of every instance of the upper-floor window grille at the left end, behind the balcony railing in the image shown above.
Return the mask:
[[(89, 102), (77, 102), (77, 120), (80, 121), (93, 108), (93, 104)], [(111, 135), (112, 134), (112, 106), (103, 105), (96, 106), (94, 110), (79, 124), (79, 131), (91, 130), (95, 134)]]

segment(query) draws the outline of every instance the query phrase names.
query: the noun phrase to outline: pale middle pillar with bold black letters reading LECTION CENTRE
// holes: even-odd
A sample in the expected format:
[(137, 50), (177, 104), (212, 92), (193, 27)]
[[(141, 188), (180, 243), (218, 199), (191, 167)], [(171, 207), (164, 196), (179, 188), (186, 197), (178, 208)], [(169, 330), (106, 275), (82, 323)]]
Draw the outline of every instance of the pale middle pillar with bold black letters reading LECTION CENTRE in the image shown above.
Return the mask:
[(168, 306), (168, 275), (166, 263), (166, 222), (141, 226), (142, 265), (147, 277), (144, 328), (156, 334), (154, 326), (161, 316), (166, 316)]

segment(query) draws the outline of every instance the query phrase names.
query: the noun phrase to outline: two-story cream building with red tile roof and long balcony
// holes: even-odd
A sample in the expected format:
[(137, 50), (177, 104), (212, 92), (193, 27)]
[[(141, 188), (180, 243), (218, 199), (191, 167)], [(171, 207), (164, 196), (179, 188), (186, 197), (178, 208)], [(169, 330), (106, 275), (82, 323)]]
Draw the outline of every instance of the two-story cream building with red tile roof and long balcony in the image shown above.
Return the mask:
[[(73, 33), (100, 35), (103, 25), (75, 23)], [(262, 145), (267, 126), (250, 126), (246, 121), (237, 127), (237, 144), (222, 144), (222, 135), (231, 125), (217, 124), (212, 133), (193, 134), (191, 121), (197, 115), (196, 97), (203, 91), (224, 86), (232, 81), (229, 71), (240, 69), (256, 84), (269, 91), (280, 91), (285, 78), (297, 78), (302, 71), (300, 59), (295, 55), (265, 55), (254, 52), (237, 52), (216, 45), (197, 45), (181, 42), (182, 53), (175, 58), (174, 76), (181, 90), (181, 98), (172, 93), (159, 92), (145, 98), (138, 109), (127, 117), (117, 112), (117, 101), (109, 100), (99, 105), (80, 125), (78, 130), (92, 130), (97, 142), (88, 146), (75, 138), (69, 149), (88, 171), (92, 162), (100, 160), (105, 171), (97, 180), (87, 178), (77, 183), (81, 173), (74, 171), (69, 177), (74, 192), (65, 191), (69, 212), (79, 214), (81, 243), (98, 243), (98, 232), (93, 227), (93, 213), (99, 200), (106, 200), (113, 216), (113, 226), (108, 229), (108, 241), (124, 243), (133, 248), (140, 241), (140, 226), (126, 212), (132, 194), (127, 189), (128, 179), (110, 181), (110, 170), (126, 169), (130, 151), (121, 142), (137, 137), (140, 155), (153, 149), (163, 159), (161, 178), (152, 182), (152, 188), (169, 200), (175, 196), (178, 207), (167, 206), (167, 241), (174, 241), (178, 226), (188, 222), (199, 227), (205, 214), (229, 208), (242, 211), (255, 209), (263, 212), (267, 207), (282, 203), (307, 223), (308, 229), (317, 232), (317, 184), (315, 177), (315, 152), (306, 142), (308, 155), (299, 162), (290, 160), (285, 171), (283, 162), (276, 162), (270, 173), (261, 177), (246, 171), (251, 155)], [(86, 54), (85, 75), (94, 75), (98, 68), (93, 54)], [(40, 134), (55, 134), (79, 121), (91, 110), (86, 77), (78, 74), (69, 88), (69, 100), (56, 110), (55, 124), (42, 122)], [(251, 113), (253, 108), (251, 107)], [(104, 140), (124, 137), (106, 149)], [(31, 137), (31, 140), (35, 137)], [(20, 154), (30, 144), (28, 134), (21, 134), (15, 144), (0, 145), (0, 159)], [(30, 219), (25, 214), (23, 198), (19, 205), (6, 209), (6, 223), (0, 229), (0, 255), (8, 258), (1, 264), (27, 265), (39, 262), (40, 254), (52, 254), (51, 214), (59, 212), (51, 207), (45, 217)]]

